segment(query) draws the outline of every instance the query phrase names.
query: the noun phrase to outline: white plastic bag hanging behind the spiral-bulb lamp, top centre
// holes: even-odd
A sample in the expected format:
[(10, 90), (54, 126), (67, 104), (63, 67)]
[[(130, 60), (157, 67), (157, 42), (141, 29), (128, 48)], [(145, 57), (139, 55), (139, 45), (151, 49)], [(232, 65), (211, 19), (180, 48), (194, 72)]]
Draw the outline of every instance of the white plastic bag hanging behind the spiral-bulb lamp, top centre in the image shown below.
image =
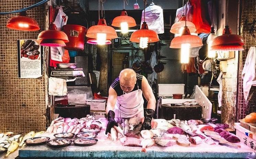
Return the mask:
[[(141, 25), (144, 22), (144, 10), (142, 11)], [(160, 6), (150, 4), (145, 9), (145, 22), (148, 29), (154, 30), (157, 34), (164, 33), (164, 15), (163, 9)]]

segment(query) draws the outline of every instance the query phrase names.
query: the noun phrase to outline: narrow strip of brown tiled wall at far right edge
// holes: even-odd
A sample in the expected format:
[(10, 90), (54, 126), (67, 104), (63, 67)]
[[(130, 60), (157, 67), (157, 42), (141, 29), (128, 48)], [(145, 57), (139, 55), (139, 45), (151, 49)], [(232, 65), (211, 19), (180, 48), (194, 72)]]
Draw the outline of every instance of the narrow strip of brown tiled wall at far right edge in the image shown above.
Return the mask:
[[(243, 95), (243, 79), (241, 76), (248, 50), (250, 47), (256, 46), (256, 30), (252, 31), (255, 37), (250, 34), (250, 29), (253, 28), (252, 22), (256, 20), (256, 1), (241, 0), (241, 6), (240, 34), (244, 38), (246, 44), (244, 45), (245, 50), (240, 52), (239, 55), (237, 120), (244, 118), (250, 112), (256, 111), (256, 87), (252, 87), (250, 91), (250, 94), (253, 93), (252, 98), (249, 100), (249, 103), (246, 103)], [(254, 27), (256, 27), (255, 24)]]

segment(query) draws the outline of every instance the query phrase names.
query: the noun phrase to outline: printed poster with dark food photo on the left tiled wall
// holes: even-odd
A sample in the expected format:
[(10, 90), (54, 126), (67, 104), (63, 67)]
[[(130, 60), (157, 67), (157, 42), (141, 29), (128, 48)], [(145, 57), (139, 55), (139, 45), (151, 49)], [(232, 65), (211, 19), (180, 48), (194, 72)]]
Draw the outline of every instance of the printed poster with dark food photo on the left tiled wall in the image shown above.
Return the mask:
[(43, 47), (36, 40), (17, 40), (19, 78), (39, 78), (43, 75)]

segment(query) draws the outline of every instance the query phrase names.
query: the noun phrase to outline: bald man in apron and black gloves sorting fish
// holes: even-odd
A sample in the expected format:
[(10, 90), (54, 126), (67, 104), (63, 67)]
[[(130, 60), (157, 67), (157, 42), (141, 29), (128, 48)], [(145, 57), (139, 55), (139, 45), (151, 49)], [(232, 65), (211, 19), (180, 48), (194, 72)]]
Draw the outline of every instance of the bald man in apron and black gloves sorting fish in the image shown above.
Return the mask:
[[(148, 101), (145, 114), (142, 94)], [(123, 69), (119, 77), (115, 79), (109, 88), (108, 104), (106, 108), (109, 122), (105, 133), (110, 133), (110, 129), (114, 125), (118, 126), (114, 120), (115, 117), (145, 117), (142, 130), (150, 130), (155, 108), (156, 99), (147, 79), (142, 75), (136, 74), (133, 69)]]

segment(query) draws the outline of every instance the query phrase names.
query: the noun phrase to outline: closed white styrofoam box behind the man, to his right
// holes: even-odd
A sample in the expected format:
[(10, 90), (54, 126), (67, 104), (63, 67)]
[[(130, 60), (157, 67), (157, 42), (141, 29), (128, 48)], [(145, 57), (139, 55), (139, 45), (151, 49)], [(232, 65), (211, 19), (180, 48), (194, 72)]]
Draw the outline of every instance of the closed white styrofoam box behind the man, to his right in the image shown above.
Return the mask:
[(184, 94), (185, 84), (158, 84), (158, 96), (172, 96)]

